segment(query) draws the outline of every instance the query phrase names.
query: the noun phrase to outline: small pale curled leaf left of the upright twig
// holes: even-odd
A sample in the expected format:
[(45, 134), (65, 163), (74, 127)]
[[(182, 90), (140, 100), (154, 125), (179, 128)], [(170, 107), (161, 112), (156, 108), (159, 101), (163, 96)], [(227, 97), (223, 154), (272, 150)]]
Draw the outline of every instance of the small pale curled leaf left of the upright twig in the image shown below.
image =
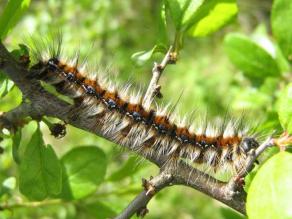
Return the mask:
[(142, 66), (143, 64), (145, 64), (153, 56), (153, 54), (155, 54), (157, 52), (162, 52), (162, 53), (166, 52), (165, 46), (163, 46), (163, 45), (155, 45), (149, 51), (136, 52), (131, 56), (131, 59), (133, 60), (133, 62), (136, 65)]

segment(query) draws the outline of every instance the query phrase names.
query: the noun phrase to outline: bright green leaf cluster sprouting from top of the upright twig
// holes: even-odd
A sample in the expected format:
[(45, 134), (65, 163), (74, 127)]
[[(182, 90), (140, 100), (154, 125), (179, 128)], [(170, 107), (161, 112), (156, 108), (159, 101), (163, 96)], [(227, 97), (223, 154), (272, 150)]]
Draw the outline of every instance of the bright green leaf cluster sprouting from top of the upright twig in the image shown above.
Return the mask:
[(166, 0), (166, 9), (175, 24), (175, 51), (182, 48), (185, 32), (205, 36), (227, 24), (238, 11), (236, 0)]

